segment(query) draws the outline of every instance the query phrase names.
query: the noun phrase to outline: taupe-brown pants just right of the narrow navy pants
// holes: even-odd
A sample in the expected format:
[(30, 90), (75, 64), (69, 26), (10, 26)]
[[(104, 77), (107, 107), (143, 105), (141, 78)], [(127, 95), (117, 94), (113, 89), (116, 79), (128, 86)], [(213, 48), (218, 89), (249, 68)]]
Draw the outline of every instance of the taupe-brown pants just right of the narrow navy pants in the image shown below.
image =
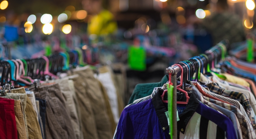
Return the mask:
[(67, 112), (65, 99), (58, 84), (32, 89), (35, 96), (46, 101), (46, 139), (74, 139), (75, 133)]

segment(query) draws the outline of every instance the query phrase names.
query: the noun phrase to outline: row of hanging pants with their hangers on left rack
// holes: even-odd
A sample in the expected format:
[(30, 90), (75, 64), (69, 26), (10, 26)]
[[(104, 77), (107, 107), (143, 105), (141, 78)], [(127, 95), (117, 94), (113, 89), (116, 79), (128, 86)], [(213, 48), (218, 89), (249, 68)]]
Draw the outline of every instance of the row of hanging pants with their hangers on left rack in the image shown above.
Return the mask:
[(86, 65), (78, 49), (0, 64), (1, 139), (113, 137), (124, 108), (124, 78), (110, 66)]

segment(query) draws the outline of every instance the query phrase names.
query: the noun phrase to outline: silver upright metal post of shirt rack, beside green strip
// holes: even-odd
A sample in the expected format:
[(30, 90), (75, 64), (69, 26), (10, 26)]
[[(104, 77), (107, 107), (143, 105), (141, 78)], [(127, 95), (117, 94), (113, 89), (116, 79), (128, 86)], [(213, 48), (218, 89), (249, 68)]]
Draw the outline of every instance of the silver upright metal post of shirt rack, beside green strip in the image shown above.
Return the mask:
[(171, 82), (173, 83), (173, 139), (177, 139), (177, 74), (171, 75)]

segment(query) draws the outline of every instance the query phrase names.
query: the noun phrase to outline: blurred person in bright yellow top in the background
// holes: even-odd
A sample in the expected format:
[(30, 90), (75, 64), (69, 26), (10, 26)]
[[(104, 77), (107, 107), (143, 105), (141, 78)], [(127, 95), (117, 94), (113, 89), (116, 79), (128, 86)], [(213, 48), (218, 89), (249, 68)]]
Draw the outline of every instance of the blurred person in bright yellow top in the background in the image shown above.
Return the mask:
[(108, 35), (116, 32), (117, 23), (114, 15), (103, 8), (106, 2), (106, 0), (82, 0), (83, 9), (92, 15), (87, 26), (89, 35)]

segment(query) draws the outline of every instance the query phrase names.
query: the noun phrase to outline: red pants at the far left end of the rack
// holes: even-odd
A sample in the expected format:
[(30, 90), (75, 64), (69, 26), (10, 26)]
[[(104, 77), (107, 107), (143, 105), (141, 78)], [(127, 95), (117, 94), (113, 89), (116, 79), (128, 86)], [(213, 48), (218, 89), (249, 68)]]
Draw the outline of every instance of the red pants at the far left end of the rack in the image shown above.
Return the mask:
[(0, 97), (0, 139), (18, 139), (14, 100)]

